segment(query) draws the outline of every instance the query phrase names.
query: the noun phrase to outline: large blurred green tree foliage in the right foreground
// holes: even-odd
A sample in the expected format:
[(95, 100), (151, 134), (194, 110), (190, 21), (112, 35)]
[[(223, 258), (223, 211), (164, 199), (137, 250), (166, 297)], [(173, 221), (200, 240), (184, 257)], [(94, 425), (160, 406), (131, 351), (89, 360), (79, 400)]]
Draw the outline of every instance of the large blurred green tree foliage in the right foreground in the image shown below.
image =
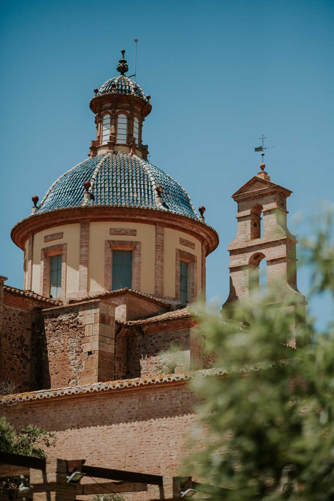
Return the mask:
[[(330, 213), (318, 219), (302, 254), (312, 294), (333, 298), (331, 223)], [(269, 307), (271, 289), (262, 299), (235, 305), (223, 319), (207, 318), (199, 329), (205, 352), (218, 353), (214, 366), (224, 370), (192, 383), (202, 401), (197, 439), (204, 449), (191, 447), (191, 471), (231, 489), (228, 501), (334, 499), (334, 328), (331, 323), (319, 334), (312, 322), (306, 328), (300, 321), (295, 336), (301, 349), (286, 346), (293, 319), (284, 308), (295, 297), (286, 290), (285, 304)], [(296, 310), (302, 318), (298, 303)], [(249, 325), (240, 322), (245, 318)], [(291, 493), (296, 482), (299, 491)]]

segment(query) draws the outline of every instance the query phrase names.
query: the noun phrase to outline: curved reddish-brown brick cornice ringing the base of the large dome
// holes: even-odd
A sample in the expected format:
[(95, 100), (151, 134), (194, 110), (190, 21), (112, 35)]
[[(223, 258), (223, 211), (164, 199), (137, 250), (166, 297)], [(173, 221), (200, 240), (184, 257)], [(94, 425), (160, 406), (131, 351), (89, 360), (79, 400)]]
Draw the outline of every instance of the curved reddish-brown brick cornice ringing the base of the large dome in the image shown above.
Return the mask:
[(195, 237), (200, 242), (205, 241), (206, 256), (219, 243), (217, 231), (206, 223), (195, 218), (176, 214), (167, 210), (123, 206), (91, 206), (69, 207), (50, 212), (34, 214), (19, 221), (11, 231), (14, 243), (24, 250), (29, 234), (35, 234), (44, 229), (62, 226), (70, 223), (95, 221), (137, 222), (143, 224), (161, 224), (164, 227), (177, 229)]

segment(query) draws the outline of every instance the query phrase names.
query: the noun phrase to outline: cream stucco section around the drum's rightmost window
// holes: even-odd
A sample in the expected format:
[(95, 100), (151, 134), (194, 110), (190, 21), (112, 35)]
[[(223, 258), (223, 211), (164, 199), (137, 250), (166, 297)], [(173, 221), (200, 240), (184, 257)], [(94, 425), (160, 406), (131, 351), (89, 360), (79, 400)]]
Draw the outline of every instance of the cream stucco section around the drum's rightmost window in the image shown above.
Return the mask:
[[(180, 244), (180, 238), (195, 244), (195, 249)], [(193, 236), (171, 228), (165, 228), (164, 245), (164, 296), (175, 297), (175, 260), (176, 249), (182, 249), (197, 257), (197, 295), (201, 292), (202, 245)]]

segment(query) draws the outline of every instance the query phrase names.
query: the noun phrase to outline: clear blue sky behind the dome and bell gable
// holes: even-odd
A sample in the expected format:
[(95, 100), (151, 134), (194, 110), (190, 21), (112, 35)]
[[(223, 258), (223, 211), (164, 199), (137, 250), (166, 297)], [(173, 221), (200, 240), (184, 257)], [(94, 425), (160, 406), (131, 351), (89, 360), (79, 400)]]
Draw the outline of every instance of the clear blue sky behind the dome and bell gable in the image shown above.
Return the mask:
[[(206, 207), (218, 249), (207, 260), (207, 296), (228, 295), (226, 247), (236, 232), (230, 195), (259, 170), (257, 138), (271, 180), (293, 190), (289, 229), (333, 190), (332, 2), (8, 2), (2, 43), (2, 268), (23, 287), (23, 253), (12, 226), (63, 172), (87, 158), (95, 139), (93, 89), (115, 76), (126, 49), (151, 95), (143, 142), (150, 161)], [(294, 217), (301, 213), (303, 223)], [(307, 295), (308, 273), (298, 274)], [(310, 310), (328, 318), (326, 299)]]

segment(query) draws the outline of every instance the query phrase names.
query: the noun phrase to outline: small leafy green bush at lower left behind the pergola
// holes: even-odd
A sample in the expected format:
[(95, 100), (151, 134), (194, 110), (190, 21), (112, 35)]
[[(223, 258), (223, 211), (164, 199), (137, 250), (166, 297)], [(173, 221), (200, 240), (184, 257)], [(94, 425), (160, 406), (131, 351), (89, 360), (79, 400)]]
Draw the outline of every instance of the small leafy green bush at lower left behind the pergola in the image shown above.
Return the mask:
[[(56, 436), (43, 428), (36, 426), (22, 426), (17, 432), (7, 421), (5, 416), (0, 417), (0, 451), (23, 454), (25, 456), (46, 458), (44, 447), (55, 447)], [(15, 488), (21, 483), (19, 478), (0, 479), (0, 490)]]

